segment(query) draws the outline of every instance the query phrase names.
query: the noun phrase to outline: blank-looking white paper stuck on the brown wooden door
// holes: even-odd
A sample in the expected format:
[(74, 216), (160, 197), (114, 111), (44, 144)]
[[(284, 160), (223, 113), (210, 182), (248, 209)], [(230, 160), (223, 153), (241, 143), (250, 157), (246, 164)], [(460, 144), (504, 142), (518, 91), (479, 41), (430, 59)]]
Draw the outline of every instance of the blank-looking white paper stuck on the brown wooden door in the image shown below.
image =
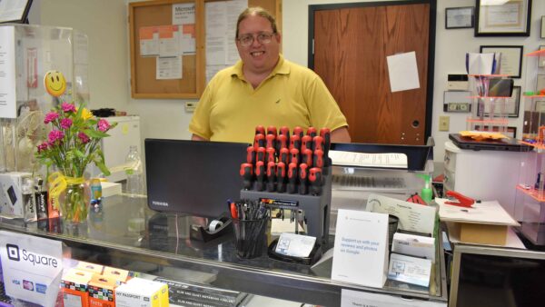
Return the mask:
[(386, 56), (386, 60), (388, 61), (391, 92), (420, 88), (416, 53), (414, 51)]

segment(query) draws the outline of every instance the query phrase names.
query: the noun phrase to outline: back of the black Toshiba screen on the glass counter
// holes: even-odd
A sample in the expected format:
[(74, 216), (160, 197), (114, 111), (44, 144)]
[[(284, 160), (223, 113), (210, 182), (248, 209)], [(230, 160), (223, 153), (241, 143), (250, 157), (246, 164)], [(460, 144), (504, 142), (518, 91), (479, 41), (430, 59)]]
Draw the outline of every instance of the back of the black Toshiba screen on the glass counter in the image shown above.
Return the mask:
[(148, 206), (215, 218), (240, 198), (248, 144), (145, 139)]

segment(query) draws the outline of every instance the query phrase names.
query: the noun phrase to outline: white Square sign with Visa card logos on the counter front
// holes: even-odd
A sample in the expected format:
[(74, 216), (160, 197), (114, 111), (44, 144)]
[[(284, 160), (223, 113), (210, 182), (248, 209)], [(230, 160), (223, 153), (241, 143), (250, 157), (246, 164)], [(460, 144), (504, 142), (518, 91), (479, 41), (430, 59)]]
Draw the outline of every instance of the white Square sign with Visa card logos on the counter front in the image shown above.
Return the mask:
[(60, 241), (0, 231), (0, 258), (7, 295), (54, 306), (63, 272)]

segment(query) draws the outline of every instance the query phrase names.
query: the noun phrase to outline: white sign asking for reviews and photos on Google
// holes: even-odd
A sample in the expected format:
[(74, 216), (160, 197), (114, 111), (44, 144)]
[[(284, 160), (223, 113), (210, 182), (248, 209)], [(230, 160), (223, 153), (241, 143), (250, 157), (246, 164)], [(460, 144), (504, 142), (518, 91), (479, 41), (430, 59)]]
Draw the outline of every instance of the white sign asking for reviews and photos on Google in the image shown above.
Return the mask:
[(388, 214), (339, 209), (332, 280), (381, 288), (388, 272)]

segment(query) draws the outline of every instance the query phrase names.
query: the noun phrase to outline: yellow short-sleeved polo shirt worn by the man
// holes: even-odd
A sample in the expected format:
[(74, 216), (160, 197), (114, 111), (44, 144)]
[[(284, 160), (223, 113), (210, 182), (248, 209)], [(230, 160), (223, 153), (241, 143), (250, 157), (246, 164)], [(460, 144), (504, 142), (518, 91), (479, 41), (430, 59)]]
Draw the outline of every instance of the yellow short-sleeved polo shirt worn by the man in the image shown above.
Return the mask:
[(253, 143), (257, 125), (265, 128), (312, 126), (332, 131), (348, 125), (318, 74), (280, 55), (272, 73), (253, 89), (243, 63), (215, 74), (193, 114), (189, 131), (211, 141)]

